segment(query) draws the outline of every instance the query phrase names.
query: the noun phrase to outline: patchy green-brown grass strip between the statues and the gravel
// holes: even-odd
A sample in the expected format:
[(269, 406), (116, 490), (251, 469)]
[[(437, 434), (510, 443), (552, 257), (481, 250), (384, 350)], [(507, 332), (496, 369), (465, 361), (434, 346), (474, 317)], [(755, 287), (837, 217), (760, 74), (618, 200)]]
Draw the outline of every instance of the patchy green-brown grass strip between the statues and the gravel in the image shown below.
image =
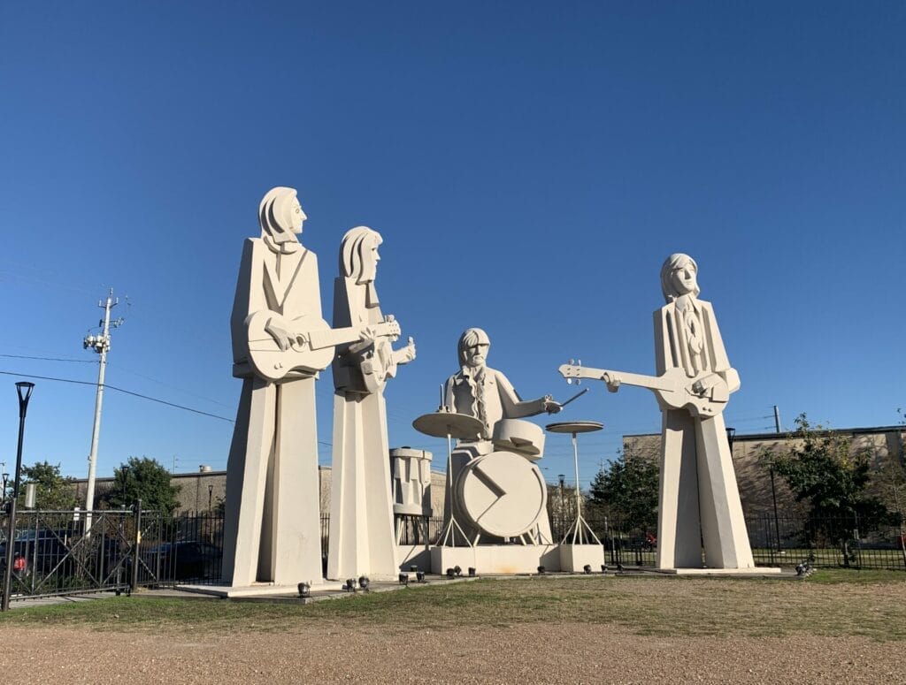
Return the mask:
[(818, 571), (805, 580), (675, 576), (539, 576), (409, 587), (295, 602), (133, 595), (14, 609), (13, 626), (223, 633), (332, 625), (394, 632), (516, 623), (622, 626), (644, 635), (864, 635), (906, 640), (906, 574)]

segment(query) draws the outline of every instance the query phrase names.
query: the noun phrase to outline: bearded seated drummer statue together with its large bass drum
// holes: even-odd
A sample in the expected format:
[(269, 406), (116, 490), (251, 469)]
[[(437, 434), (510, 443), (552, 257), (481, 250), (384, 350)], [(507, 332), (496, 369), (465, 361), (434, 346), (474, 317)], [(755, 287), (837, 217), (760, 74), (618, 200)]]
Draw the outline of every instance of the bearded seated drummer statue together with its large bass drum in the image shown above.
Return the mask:
[[(455, 515), (473, 544), (479, 538), (493, 543), (519, 536), (527, 542), (550, 543), (545, 481), (534, 463), (544, 449), (544, 433), (534, 423), (518, 419), (556, 414), (561, 404), (551, 395), (535, 400), (519, 397), (506, 376), (487, 366), (490, 344), (484, 330), (468, 328), (458, 343), (461, 367), (444, 387), (450, 412), (481, 423), (476, 439), (459, 440), (452, 452), (447, 476), (452, 497), (444, 505), (445, 518)], [(496, 457), (491, 459), (492, 455)]]

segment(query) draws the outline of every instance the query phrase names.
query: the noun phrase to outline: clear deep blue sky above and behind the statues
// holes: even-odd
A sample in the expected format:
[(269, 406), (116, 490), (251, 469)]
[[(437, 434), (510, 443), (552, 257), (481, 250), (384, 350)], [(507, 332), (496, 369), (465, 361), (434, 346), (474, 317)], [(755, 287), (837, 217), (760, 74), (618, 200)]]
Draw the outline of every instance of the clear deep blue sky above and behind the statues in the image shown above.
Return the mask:
[[(569, 357), (651, 373), (670, 252), (699, 262), (738, 433), (772, 430), (774, 404), (787, 426), (898, 423), (904, 34), (894, 2), (5, 3), (0, 461), (15, 380), (96, 379), (82, 338), (111, 287), (107, 382), (235, 417), (236, 269), (272, 186), (299, 190), (325, 318), (342, 234), (383, 235), (382, 307), (419, 349), (386, 393), (390, 444), (436, 468), (445, 442), (410, 423), (464, 328), (525, 397), (572, 395)], [(83, 477), (92, 386), (35, 382), (26, 463)], [(327, 374), (324, 464), (332, 395)], [(581, 442), (583, 486), (622, 434), (660, 430), (629, 387), (592, 385), (556, 419), (605, 424)], [(98, 472), (225, 468), (231, 433), (110, 391)], [(573, 472), (568, 436), (540, 465)]]

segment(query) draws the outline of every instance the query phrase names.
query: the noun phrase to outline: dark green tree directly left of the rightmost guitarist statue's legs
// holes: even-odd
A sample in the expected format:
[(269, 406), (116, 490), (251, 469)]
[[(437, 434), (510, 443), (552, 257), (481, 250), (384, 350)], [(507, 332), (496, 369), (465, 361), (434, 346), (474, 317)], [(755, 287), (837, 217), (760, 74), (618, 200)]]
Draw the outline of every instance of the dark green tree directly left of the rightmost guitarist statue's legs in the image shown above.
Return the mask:
[(595, 475), (591, 504), (608, 516), (621, 519), (625, 529), (657, 528), (658, 471), (656, 461), (622, 452)]

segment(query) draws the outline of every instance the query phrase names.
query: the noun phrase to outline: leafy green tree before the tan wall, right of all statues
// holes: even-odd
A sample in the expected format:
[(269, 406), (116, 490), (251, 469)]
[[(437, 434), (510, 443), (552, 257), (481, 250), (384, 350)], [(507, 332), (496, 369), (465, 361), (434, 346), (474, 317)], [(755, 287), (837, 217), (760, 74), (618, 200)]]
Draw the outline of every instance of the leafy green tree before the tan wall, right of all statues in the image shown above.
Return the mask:
[(813, 537), (834, 541), (849, 565), (854, 532), (895, 524), (897, 517), (866, 493), (871, 480), (868, 452), (853, 452), (848, 437), (813, 426), (805, 414), (799, 414), (795, 423), (797, 443), (775, 457), (774, 469), (795, 499), (807, 503)]

